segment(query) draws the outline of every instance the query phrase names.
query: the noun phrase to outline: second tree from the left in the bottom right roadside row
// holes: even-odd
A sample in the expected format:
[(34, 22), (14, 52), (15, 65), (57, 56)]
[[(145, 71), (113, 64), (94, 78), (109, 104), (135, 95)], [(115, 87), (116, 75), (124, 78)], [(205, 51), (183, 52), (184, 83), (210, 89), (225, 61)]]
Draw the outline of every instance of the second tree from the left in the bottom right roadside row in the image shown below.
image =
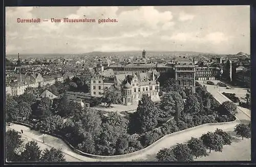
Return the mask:
[(177, 161), (193, 161), (191, 150), (185, 144), (177, 144), (173, 153)]

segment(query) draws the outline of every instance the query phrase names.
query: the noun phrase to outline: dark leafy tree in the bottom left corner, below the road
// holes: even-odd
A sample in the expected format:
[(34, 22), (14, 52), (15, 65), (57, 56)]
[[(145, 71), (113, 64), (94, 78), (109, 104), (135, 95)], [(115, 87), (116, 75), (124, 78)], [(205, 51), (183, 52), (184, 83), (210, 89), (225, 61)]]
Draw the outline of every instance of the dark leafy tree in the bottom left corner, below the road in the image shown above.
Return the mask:
[(18, 159), (16, 150), (23, 144), (22, 136), (15, 130), (8, 130), (5, 137), (6, 159), (8, 161), (15, 161)]

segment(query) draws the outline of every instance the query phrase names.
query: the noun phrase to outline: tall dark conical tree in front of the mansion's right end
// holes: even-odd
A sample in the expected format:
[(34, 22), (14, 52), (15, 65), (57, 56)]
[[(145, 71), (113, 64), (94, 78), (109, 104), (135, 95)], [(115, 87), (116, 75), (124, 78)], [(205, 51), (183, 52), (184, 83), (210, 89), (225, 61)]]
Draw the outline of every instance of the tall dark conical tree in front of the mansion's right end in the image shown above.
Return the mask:
[(143, 94), (135, 114), (137, 115), (137, 124), (135, 125), (138, 126), (140, 133), (154, 129), (158, 124), (158, 109), (148, 94)]

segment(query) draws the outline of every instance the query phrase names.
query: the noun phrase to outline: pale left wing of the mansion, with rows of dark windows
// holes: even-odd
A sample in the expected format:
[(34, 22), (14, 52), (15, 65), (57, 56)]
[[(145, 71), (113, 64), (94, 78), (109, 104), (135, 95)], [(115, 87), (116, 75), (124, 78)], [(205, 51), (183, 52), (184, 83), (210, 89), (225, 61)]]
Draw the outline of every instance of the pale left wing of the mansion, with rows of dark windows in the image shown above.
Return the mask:
[(100, 75), (95, 75), (91, 78), (91, 96), (102, 97), (105, 88), (109, 88), (114, 85), (114, 80), (104, 78)]

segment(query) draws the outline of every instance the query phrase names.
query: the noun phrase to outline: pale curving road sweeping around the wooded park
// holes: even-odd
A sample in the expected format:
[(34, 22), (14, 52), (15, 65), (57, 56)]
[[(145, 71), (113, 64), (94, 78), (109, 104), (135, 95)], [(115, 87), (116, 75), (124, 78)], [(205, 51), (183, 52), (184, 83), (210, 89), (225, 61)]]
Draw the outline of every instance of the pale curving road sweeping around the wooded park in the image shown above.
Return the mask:
[[(209, 87), (211, 85), (207, 85), (208, 91), (220, 102), (223, 103), (224, 101), (227, 101), (227, 99), (223, 96), (221, 96), (220, 93), (218, 93), (217, 89), (214, 89), (213, 86)], [(216, 91), (215, 91), (216, 90)], [(239, 120), (250, 120), (250, 116), (243, 112), (243, 110), (239, 110), (239, 113), (237, 115)], [(168, 136), (164, 138), (161, 142), (158, 142), (155, 146), (151, 147), (148, 150), (145, 150), (142, 154), (134, 155), (131, 157), (121, 157), (119, 159), (109, 159), (109, 160), (102, 160), (102, 159), (96, 159), (96, 158), (89, 158), (82, 155), (79, 155), (75, 152), (73, 152), (69, 146), (65, 144), (64, 141), (62, 141), (60, 138), (53, 137), (51, 135), (43, 135), (39, 131), (30, 130), (30, 128), (22, 126), (22, 125), (16, 125), (12, 124), (11, 126), (7, 127), (7, 129), (14, 129), (16, 131), (23, 130), (24, 133), (22, 134), (23, 138), (27, 138), (28, 140), (36, 140), (38, 142), (38, 145), (41, 147), (41, 149), (54, 147), (54, 148), (60, 148), (62, 152), (65, 154), (66, 161), (134, 161), (136, 159), (146, 159), (150, 155), (156, 154), (159, 150), (163, 148), (169, 148), (175, 146), (177, 143), (183, 143), (188, 141), (191, 137), (200, 137), (202, 134), (208, 132), (208, 131), (215, 131), (216, 128), (223, 129), (224, 131), (233, 131), (234, 126), (236, 126), (237, 123), (231, 123), (228, 125), (218, 125), (218, 126), (205, 126), (200, 128), (191, 129), (188, 131), (185, 131), (184, 133), (175, 134), (173, 136)], [(44, 140), (44, 142), (42, 142)]]

